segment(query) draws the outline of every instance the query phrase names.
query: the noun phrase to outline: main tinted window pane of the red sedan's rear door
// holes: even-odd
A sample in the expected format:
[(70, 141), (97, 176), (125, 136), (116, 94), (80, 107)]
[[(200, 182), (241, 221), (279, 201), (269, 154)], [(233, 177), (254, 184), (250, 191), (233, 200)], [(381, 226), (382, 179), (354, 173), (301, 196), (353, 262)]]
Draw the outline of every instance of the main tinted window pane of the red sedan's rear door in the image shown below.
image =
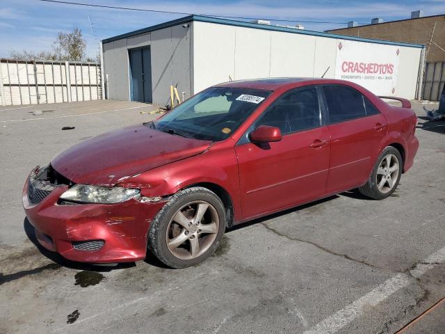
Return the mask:
[(329, 122), (337, 123), (366, 116), (363, 95), (346, 86), (325, 86)]

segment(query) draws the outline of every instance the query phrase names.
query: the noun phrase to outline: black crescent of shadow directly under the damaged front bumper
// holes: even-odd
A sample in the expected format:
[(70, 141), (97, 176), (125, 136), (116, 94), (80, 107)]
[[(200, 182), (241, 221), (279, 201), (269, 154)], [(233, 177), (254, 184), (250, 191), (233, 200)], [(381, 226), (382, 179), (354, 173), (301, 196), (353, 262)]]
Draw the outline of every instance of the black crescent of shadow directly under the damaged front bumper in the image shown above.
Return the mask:
[(47, 257), (49, 260), (55, 262), (56, 264), (59, 264), (61, 267), (76, 269), (81, 271), (108, 272), (114, 269), (124, 269), (136, 266), (134, 262), (120, 263), (114, 267), (104, 267), (97, 264), (88, 264), (88, 263), (74, 262), (67, 260), (62, 255), (55, 252), (51, 252), (51, 250), (47, 250), (47, 248), (44, 248), (42, 245), (40, 245), (39, 241), (37, 240), (37, 237), (35, 237), (35, 229), (33, 225), (29, 223), (28, 218), (24, 218), (23, 228), (26, 233), (26, 237), (28, 237), (29, 241), (31, 241), (35, 245), (35, 247), (38, 248), (40, 253), (42, 253), (42, 255), (44, 255), (44, 257)]

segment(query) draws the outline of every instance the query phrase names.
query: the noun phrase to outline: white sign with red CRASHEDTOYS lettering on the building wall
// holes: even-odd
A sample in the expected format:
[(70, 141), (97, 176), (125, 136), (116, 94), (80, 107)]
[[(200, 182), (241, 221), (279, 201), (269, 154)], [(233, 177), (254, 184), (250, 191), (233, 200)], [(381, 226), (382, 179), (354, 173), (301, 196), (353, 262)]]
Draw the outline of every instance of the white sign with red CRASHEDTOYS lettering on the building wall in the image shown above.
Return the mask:
[(353, 81), (376, 95), (396, 95), (397, 46), (339, 40), (335, 78)]

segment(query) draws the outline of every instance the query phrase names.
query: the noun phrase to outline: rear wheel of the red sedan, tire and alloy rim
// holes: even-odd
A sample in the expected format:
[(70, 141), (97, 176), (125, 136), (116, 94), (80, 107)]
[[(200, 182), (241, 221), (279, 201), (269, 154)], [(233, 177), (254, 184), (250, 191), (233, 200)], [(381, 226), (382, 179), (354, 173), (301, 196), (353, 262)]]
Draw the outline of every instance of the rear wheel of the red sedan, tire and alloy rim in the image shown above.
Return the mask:
[(387, 146), (379, 155), (368, 182), (359, 188), (362, 195), (382, 200), (394, 193), (401, 180), (403, 159), (393, 146)]

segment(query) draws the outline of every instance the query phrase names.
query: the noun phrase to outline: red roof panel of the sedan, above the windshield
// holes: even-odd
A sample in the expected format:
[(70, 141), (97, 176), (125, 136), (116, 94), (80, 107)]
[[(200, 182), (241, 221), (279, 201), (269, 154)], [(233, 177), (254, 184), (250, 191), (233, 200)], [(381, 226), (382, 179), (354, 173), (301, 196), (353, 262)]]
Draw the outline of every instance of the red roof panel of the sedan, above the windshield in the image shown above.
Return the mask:
[(313, 84), (343, 84), (347, 86), (355, 86), (350, 81), (338, 79), (322, 79), (322, 78), (261, 78), (228, 81), (213, 87), (231, 87), (231, 88), (252, 88), (263, 90), (280, 90), (282, 88), (296, 88), (299, 86), (307, 86)]

